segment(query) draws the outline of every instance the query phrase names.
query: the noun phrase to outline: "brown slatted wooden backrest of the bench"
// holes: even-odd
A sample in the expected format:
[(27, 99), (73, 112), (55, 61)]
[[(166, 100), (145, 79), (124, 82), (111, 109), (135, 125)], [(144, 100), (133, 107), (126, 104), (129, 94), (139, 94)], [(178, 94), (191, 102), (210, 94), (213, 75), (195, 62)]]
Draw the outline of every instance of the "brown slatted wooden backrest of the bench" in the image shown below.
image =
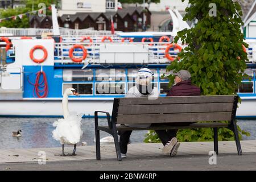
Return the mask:
[(117, 124), (232, 121), (238, 96), (115, 98), (112, 121)]

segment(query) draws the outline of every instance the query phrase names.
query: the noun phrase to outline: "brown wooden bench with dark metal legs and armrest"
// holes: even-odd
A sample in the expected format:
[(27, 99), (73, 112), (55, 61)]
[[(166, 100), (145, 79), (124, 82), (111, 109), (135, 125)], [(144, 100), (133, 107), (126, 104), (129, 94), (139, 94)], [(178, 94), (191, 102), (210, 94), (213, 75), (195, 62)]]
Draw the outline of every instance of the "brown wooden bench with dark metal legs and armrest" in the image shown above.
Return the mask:
[[(242, 155), (236, 124), (238, 96), (180, 96), (148, 98), (114, 98), (112, 118), (104, 111), (95, 111), (96, 158), (100, 155), (100, 131), (114, 137), (117, 159), (122, 160), (117, 130), (163, 130), (192, 129), (212, 127), (214, 132), (214, 151), (218, 154), (218, 128), (226, 127), (233, 131), (238, 155)], [(105, 113), (108, 126), (98, 126), (98, 113)], [(198, 123), (208, 121), (207, 123)], [(229, 121), (220, 123), (218, 121)], [(166, 126), (165, 123), (193, 122), (187, 126)], [(121, 126), (121, 124), (163, 123), (147, 128)]]

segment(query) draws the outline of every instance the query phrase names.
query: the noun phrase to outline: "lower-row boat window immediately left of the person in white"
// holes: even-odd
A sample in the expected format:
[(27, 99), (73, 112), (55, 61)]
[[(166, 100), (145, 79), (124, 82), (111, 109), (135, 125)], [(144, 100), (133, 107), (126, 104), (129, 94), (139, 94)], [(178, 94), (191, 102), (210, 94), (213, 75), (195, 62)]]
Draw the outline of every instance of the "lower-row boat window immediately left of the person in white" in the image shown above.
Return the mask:
[(95, 85), (96, 94), (125, 94), (125, 83), (120, 82), (101, 82)]

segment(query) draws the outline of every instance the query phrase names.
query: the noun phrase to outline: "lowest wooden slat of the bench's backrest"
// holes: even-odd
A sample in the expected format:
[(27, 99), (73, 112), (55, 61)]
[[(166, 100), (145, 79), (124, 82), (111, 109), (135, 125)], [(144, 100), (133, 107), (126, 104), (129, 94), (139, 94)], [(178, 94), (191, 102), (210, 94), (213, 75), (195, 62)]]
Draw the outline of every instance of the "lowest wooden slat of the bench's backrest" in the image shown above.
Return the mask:
[(230, 121), (232, 112), (118, 115), (117, 124)]

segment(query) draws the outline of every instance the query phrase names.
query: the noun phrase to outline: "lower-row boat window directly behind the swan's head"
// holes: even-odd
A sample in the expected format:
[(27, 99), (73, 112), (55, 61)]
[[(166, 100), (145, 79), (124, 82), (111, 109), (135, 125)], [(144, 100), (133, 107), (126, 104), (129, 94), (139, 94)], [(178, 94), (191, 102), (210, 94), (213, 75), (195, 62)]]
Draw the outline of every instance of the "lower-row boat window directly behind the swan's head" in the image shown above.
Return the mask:
[(93, 84), (63, 84), (63, 93), (67, 88), (76, 89), (80, 95), (93, 94)]

